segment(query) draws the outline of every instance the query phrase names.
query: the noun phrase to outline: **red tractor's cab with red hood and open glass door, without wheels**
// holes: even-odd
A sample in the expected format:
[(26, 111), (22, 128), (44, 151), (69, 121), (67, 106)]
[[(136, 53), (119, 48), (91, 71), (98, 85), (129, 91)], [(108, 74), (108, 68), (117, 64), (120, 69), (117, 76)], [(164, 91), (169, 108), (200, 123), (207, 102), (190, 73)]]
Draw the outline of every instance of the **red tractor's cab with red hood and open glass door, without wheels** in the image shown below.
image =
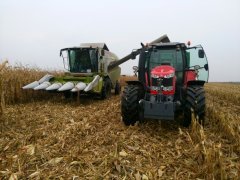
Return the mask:
[(141, 53), (138, 76), (152, 93), (161, 91), (177, 98), (183, 85), (208, 81), (208, 62), (200, 45), (158, 43)]

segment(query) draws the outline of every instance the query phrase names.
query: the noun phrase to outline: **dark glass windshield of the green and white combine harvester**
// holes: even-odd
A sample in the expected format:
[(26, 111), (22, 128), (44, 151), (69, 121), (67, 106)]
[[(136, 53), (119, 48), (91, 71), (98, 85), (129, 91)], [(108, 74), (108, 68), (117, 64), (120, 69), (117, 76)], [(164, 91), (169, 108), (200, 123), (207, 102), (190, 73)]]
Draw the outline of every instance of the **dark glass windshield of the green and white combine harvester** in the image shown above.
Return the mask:
[(91, 73), (98, 71), (95, 49), (70, 49), (68, 50), (68, 57), (70, 72)]

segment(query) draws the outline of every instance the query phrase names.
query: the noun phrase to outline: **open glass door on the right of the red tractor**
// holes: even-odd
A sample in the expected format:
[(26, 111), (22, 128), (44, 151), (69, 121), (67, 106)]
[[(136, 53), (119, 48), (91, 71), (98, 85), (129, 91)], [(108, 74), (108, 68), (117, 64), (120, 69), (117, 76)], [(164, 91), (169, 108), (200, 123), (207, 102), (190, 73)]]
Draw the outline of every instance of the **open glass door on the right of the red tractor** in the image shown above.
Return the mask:
[[(200, 51), (203, 53), (201, 56)], [(187, 65), (189, 69), (195, 69), (198, 73), (198, 80), (208, 82), (208, 61), (202, 46), (195, 46), (187, 49)]]

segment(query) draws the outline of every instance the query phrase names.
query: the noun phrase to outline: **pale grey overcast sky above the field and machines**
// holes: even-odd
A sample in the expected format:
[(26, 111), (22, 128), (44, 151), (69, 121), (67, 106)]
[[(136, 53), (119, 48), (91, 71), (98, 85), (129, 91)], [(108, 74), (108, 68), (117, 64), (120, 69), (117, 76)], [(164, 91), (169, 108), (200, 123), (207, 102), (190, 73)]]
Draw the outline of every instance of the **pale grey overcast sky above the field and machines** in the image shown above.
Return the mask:
[(202, 44), (210, 81), (240, 81), (240, 0), (0, 1), (0, 61), (11, 64), (63, 69), (59, 50), (83, 42), (105, 42), (121, 58), (163, 34)]

